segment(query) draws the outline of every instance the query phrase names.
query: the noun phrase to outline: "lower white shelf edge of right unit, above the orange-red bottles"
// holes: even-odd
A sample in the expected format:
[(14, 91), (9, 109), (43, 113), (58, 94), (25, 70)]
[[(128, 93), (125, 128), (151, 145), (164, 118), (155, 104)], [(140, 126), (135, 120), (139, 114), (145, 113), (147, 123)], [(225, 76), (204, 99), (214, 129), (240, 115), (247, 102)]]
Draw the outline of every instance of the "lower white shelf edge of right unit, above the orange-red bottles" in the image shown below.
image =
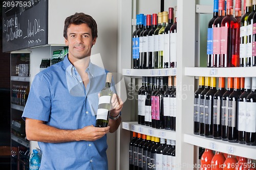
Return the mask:
[(256, 147), (240, 143), (231, 143), (223, 140), (213, 140), (204, 136), (184, 134), (184, 142), (197, 145), (198, 147), (238, 155), (246, 158), (256, 159)]

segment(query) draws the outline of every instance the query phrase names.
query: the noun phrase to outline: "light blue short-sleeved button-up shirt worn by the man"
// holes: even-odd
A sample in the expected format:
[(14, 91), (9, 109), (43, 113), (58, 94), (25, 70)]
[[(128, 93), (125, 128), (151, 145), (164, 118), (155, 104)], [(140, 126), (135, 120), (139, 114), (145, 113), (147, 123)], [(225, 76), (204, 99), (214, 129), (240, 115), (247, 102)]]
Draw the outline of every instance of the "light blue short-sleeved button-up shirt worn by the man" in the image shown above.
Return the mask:
[[(90, 62), (86, 72), (90, 81), (84, 88), (68, 57), (40, 71), (31, 85), (22, 117), (45, 121), (58, 129), (95, 126), (98, 93), (105, 86), (106, 70)], [(96, 141), (38, 142), (38, 145), (42, 151), (40, 170), (108, 169), (106, 135)]]

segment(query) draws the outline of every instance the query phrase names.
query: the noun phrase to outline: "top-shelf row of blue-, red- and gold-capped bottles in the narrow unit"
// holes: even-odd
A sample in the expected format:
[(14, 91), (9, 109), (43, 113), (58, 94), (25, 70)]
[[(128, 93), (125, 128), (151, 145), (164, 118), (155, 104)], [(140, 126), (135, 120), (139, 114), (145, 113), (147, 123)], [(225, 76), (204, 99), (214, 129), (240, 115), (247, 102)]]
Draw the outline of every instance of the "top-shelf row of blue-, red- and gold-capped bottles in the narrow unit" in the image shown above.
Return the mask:
[(176, 67), (177, 7), (158, 14), (138, 14), (132, 37), (133, 68)]

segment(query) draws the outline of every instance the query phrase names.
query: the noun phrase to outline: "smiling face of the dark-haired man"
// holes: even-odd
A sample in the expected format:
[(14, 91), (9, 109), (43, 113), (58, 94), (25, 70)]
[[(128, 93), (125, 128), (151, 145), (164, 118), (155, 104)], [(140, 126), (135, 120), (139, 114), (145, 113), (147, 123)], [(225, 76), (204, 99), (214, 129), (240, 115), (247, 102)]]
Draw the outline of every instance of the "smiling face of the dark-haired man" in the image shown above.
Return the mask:
[(92, 31), (86, 23), (81, 25), (71, 24), (67, 30), (68, 39), (65, 39), (69, 46), (69, 60), (75, 62), (91, 55), (91, 48), (96, 42), (92, 38)]

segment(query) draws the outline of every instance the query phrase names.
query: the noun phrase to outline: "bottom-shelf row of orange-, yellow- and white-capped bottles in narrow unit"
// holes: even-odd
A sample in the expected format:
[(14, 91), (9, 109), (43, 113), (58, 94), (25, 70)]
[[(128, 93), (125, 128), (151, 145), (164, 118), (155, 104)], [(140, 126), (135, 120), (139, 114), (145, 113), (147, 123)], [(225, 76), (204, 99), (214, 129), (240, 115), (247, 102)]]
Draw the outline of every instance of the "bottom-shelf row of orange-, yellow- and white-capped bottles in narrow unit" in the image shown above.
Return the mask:
[(129, 170), (175, 169), (175, 140), (133, 132), (129, 148)]

